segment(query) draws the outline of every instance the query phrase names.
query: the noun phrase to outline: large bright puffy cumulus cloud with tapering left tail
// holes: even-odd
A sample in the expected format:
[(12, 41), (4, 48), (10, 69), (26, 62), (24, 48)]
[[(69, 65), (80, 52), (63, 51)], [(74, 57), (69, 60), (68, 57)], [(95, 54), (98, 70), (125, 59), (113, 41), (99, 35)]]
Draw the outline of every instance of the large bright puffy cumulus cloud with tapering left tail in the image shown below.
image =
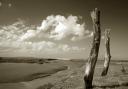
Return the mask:
[[(42, 21), (41, 26), (36, 30), (29, 30), (21, 36), (21, 40), (49, 38), (53, 40), (63, 40), (68, 38), (71, 41), (87, 38), (90, 31), (86, 29), (85, 23), (78, 23), (77, 16), (51, 15)], [(89, 37), (89, 36), (88, 36)]]

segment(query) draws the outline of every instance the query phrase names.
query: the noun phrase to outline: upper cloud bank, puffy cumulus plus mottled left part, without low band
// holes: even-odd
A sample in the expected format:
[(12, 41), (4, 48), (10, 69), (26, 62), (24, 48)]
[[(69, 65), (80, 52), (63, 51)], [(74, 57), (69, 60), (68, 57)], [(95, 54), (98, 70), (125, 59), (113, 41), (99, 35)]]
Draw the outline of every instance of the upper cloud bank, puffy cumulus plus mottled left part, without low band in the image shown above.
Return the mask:
[(0, 26), (0, 39), (3, 40), (63, 40), (71, 41), (86, 39), (92, 36), (85, 23), (78, 23), (77, 16), (51, 15), (42, 21), (41, 26), (26, 26), (23, 20), (14, 24)]

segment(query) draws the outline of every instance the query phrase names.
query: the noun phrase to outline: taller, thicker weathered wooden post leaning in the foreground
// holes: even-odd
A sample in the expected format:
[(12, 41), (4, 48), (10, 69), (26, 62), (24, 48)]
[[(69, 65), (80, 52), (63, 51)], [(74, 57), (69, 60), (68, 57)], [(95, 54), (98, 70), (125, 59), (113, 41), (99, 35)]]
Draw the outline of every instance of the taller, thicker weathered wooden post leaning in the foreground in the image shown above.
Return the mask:
[(101, 30), (100, 30), (100, 11), (97, 8), (95, 8), (95, 10), (91, 12), (91, 18), (93, 21), (94, 32), (93, 32), (92, 48), (88, 62), (86, 64), (85, 75), (84, 75), (85, 89), (92, 88), (93, 74), (99, 53)]

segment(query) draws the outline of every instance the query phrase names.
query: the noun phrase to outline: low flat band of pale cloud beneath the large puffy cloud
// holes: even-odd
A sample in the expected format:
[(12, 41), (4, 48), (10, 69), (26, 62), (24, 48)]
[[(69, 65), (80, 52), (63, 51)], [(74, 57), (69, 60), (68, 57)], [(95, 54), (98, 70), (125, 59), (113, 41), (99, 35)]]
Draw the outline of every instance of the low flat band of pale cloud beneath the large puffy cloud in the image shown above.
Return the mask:
[[(57, 52), (73, 52), (73, 51), (84, 51), (84, 48), (78, 46), (69, 46), (68, 44), (56, 44), (51, 41), (41, 42), (21, 42), (21, 41), (2, 41), (0, 48), (11, 48), (10, 51), (29, 51), (37, 53), (57, 53)], [(4, 49), (4, 50), (5, 50)]]

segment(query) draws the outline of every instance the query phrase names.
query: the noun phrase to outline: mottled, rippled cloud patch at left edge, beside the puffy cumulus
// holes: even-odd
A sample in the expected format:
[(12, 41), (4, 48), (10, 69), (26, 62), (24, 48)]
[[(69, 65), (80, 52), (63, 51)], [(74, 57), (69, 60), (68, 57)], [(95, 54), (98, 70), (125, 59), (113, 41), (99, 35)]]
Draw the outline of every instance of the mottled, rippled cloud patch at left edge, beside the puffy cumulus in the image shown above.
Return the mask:
[(19, 19), (14, 24), (0, 26), (0, 40), (17, 41), (21, 38), (22, 35), (27, 33), (27, 31), (29, 31), (30, 29), (34, 29), (34, 27), (25, 26), (24, 21)]

